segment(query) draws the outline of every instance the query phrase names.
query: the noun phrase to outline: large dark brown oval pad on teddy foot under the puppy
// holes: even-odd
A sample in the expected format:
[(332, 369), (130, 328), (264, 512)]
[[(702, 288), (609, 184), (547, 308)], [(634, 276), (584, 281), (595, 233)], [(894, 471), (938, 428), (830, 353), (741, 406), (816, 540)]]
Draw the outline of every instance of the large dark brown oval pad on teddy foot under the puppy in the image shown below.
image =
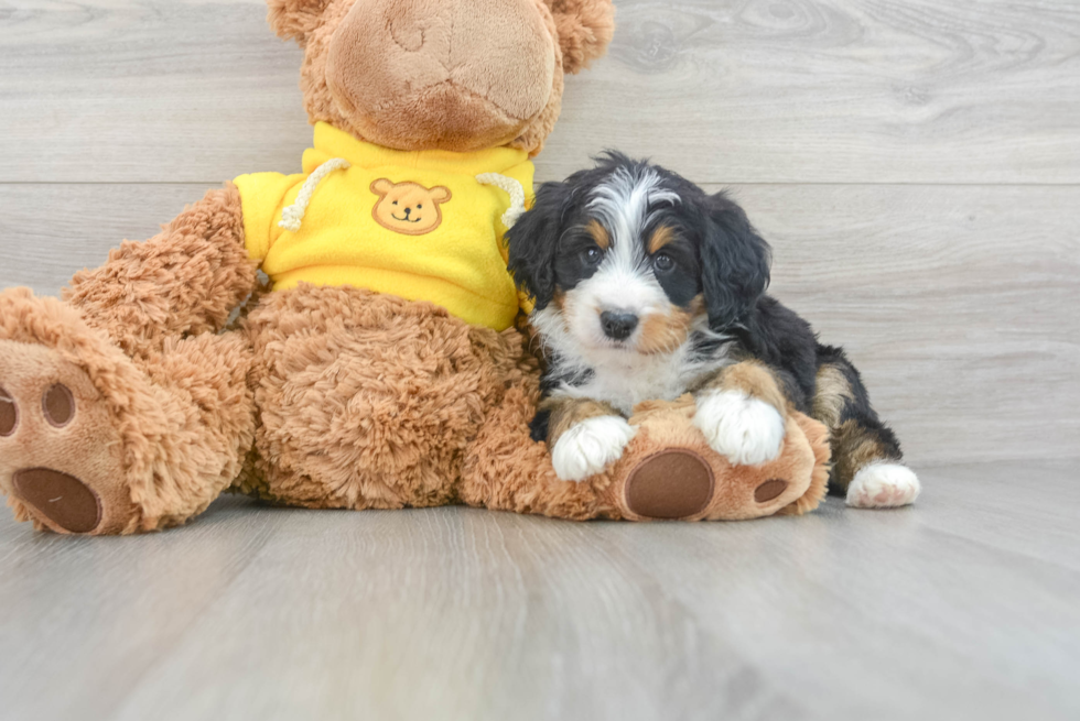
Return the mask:
[(713, 499), (709, 463), (689, 450), (669, 450), (641, 461), (626, 479), (626, 507), (644, 518), (687, 518), (703, 513)]

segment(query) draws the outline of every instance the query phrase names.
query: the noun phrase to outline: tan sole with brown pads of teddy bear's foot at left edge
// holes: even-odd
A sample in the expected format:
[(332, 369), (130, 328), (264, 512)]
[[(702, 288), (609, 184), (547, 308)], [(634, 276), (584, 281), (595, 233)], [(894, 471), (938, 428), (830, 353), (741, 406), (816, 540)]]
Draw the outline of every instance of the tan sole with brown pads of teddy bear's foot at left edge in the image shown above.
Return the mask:
[(0, 340), (0, 489), (17, 517), (63, 534), (120, 533), (136, 516), (120, 448), (83, 369)]

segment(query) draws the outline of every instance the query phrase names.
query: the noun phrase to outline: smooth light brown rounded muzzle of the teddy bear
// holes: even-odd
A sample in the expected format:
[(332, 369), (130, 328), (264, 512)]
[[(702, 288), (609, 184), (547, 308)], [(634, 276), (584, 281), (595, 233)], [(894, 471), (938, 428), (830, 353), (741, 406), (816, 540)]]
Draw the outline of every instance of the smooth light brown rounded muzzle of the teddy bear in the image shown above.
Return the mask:
[(356, 0), (327, 84), (368, 140), (398, 150), (503, 145), (544, 110), (557, 45), (536, 0)]

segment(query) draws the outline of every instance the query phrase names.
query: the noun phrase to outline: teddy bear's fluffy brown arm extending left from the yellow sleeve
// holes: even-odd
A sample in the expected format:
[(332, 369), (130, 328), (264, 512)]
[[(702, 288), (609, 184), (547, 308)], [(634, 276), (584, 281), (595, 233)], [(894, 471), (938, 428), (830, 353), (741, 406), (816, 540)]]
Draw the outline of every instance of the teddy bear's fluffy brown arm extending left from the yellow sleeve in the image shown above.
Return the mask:
[(165, 338), (220, 330), (256, 287), (240, 194), (229, 183), (150, 240), (125, 241), (105, 265), (77, 273), (64, 299), (87, 325), (138, 356)]

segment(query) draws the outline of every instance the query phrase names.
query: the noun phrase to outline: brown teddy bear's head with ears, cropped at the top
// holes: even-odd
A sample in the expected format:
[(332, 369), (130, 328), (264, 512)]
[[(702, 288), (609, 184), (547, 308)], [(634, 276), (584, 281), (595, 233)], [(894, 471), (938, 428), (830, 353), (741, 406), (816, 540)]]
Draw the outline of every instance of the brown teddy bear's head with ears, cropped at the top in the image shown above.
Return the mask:
[(396, 150), (538, 153), (563, 75), (607, 48), (612, 0), (267, 0), (304, 48), (312, 122)]

